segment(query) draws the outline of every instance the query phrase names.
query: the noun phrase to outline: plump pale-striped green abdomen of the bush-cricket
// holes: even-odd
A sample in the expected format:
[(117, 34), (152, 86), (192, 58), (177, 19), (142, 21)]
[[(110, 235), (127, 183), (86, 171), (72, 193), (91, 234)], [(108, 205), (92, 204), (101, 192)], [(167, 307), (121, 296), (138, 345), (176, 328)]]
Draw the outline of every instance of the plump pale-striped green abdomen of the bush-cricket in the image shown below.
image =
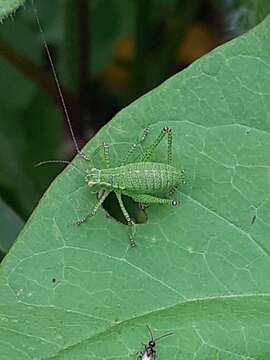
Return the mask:
[(173, 166), (157, 162), (137, 162), (103, 169), (101, 183), (135, 194), (161, 194), (183, 182), (183, 174)]

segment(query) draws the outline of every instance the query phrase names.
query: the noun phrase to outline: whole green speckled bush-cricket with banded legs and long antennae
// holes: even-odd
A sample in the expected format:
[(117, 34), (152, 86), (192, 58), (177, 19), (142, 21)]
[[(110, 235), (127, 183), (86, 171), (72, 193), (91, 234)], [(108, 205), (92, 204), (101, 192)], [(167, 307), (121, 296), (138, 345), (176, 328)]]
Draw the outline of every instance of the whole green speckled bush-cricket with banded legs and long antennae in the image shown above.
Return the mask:
[[(34, 5), (34, 2), (32, 2), (32, 4), (76, 151), (83, 160), (89, 161), (89, 159), (79, 150), (77, 141), (75, 139), (70, 118), (66, 109), (65, 101), (62, 95), (61, 86), (53, 65), (53, 61), (50, 56), (47, 43), (45, 41), (43, 29), (39, 22), (37, 9)], [(96, 149), (94, 155), (99, 150), (103, 150), (105, 167), (91, 167), (84, 170), (83, 175), (89, 188), (93, 188), (97, 193), (99, 193), (99, 198), (93, 209), (83, 218), (74, 221), (75, 224), (81, 225), (86, 222), (89, 217), (94, 216), (99, 207), (107, 198), (107, 196), (111, 192), (114, 192), (119, 202), (121, 211), (128, 225), (130, 226), (129, 240), (131, 246), (134, 246), (135, 222), (131, 219), (128, 211), (126, 210), (126, 207), (122, 200), (123, 194), (129, 196), (131, 199), (133, 199), (135, 202), (140, 203), (142, 206), (148, 206), (150, 204), (166, 204), (172, 206), (177, 205), (177, 201), (170, 199), (170, 196), (173, 194), (178, 185), (183, 184), (184, 173), (183, 170), (179, 170), (172, 166), (171, 128), (164, 127), (160, 131), (156, 140), (151, 145), (149, 145), (145, 151), (143, 151), (143, 153), (136, 159), (136, 161), (132, 161), (132, 155), (134, 154), (134, 150), (138, 147), (138, 145), (144, 142), (148, 133), (149, 129), (145, 129), (140, 141), (137, 144), (131, 146), (131, 148), (127, 152), (126, 158), (117, 167), (111, 166), (108, 144), (103, 143)], [(168, 142), (167, 160), (164, 163), (156, 162), (153, 160), (153, 155), (156, 148), (165, 136), (167, 136)], [(38, 165), (55, 162), (69, 163), (68, 161), (50, 160), (41, 162)], [(75, 165), (71, 165), (75, 167), (80, 173), (82, 173), (82, 171), (78, 169)]]

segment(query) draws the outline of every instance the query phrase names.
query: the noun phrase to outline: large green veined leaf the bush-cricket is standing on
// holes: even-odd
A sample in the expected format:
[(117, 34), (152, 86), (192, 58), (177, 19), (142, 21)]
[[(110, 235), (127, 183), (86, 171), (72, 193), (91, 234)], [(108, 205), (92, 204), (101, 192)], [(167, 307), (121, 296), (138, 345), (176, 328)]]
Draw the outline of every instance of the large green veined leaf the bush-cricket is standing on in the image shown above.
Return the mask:
[[(270, 18), (120, 112), (91, 141), (113, 164), (150, 127), (173, 128), (185, 169), (178, 208), (152, 206), (129, 249), (69, 167), (44, 195), (0, 274), (3, 359), (270, 357)], [(166, 158), (162, 144), (156, 159)], [(97, 166), (103, 166), (97, 158)], [(75, 160), (83, 169), (82, 160)]]

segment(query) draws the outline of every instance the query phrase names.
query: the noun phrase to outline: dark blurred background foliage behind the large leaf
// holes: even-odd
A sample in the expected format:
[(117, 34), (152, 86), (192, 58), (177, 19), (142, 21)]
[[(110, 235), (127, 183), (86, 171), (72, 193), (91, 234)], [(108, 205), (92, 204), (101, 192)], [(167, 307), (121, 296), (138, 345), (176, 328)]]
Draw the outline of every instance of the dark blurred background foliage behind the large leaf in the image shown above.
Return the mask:
[[(35, 0), (79, 146), (269, 12), (268, 0)], [(0, 5), (1, 6), (1, 5)], [(0, 24), (0, 261), (75, 154), (31, 1)]]

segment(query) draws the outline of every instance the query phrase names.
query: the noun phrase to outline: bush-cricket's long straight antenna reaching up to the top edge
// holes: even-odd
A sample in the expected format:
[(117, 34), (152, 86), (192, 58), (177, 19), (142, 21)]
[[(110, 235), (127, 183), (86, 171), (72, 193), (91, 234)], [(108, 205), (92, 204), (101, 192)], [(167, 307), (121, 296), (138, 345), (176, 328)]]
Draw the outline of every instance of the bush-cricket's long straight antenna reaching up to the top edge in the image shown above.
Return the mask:
[(62, 89), (61, 89), (61, 86), (60, 86), (60, 82), (59, 82), (59, 79), (58, 79), (58, 76), (57, 76), (57, 73), (56, 73), (56, 70), (55, 70), (53, 61), (52, 61), (52, 57), (51, 57), (51, 54), (50, 54), (50, 50), (49, 50), (49, 48), (48, 48), (48, 45), (47, 45), (47, 42), (46, 42), (46, 39), (45, 39), (44, 30), (43, 30), (43, 28), (42, 28), (42, 26), (41, 26), (41, 23), (40, 23), (40, 21), (39, 21), (38, 10), (37, 10), (37, 7), (36, 7), (36, 5), (35, 5), (34, 0), (32, 0), (32, 7), (33, 7), (33, 10), (34, 10), (34, 15), (35, 15), (35, 18), (36, 18), (36, 21), (37, 21), (37, 25), (38, 25), (38, 27), (39, 27), (39, 31), (40, 31), (40, 33), (41, 33), (42, 42), (43, 42), (43, 45), (44, 45), (46, 54), (47, 54), (47, 56), (48, 56), (48, 59), (49, 59), (49, 63), (50, 63), (52, 72), (53, 72), (54, 81), (55, 81), (56, 87), (57, 87), (58, 92), (59, 92), (61, 104), (62, 104), (62, 107), (63, 107), (63, 110), (64, 110), (64, 114), (65, 114), (65, 117), (66, 117), (66, 120), (67, 120), (67, 123), (68, 123), (69, 131), (70, 131), (70, 134), (71, 134), (73, 143), (74, 143), (74, 145), (75, 145), (75, 149), (76, 149), (76, 151), (77, 151), (77, 154), (79, 154), (79, 155), (80, 155), (81, 157), (83, 157), (83, 158), (86, 158), (86, 156), (85, 156), (85, 155), (81, 152), (81, 150), (79, 149), (77, 140), (76, 140), (75, 135), (74, 135), (74, 131), (73, 131), (72, 126), (71, 126), (71, 121), (70, 121), (70, 117), (69, 117), (68, 110), (67, 110), (67, 107), (66, 107), (66, 103), (65, 103), (64, 96), (63, 96), (63, 92), (62, 92)]

